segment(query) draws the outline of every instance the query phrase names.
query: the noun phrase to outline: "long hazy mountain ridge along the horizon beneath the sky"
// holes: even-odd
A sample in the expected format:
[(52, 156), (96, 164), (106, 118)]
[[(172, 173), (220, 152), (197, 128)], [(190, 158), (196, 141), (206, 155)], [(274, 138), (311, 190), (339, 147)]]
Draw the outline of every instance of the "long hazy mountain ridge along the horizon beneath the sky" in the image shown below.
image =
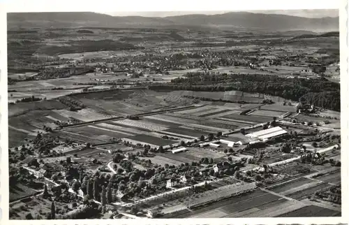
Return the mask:
[(339, 17), (306, 18), (290, 15), (234, 12), (169, 17), (111, 16), (101, 13), (8, 13), (8, 29), (19, 27), (265, 29), (270, 31), (339, 31)]

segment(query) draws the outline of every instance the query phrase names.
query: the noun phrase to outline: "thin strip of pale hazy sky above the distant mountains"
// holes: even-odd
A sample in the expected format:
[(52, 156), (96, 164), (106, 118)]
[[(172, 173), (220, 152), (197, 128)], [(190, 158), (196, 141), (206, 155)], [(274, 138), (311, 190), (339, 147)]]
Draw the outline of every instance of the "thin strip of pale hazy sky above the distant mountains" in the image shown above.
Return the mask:
[[(117, 15), (117, 16), (127, 16), (127, 15), (138, 15), (145, 17), (166, 17), (173, 15), (188, 15), (188, 14), (206, 14), (206, 15), (214, 15), (214, 14), (223, 14), (233, 12), (230, 11), (170, 11), (170, 12), (99, 12), (105, 13), (108, 15)], [(283, 14), (283, 15), (295, 15), (300, 17), (311, 17), (311, 18), (319, 18), (319, 17), (337, 17), (339, 16), (339, 10), (336, 9), (316, 9), (316, 10), (254, 10), (248, 11), (251, 13), (267, 13), (267, 14)]]

